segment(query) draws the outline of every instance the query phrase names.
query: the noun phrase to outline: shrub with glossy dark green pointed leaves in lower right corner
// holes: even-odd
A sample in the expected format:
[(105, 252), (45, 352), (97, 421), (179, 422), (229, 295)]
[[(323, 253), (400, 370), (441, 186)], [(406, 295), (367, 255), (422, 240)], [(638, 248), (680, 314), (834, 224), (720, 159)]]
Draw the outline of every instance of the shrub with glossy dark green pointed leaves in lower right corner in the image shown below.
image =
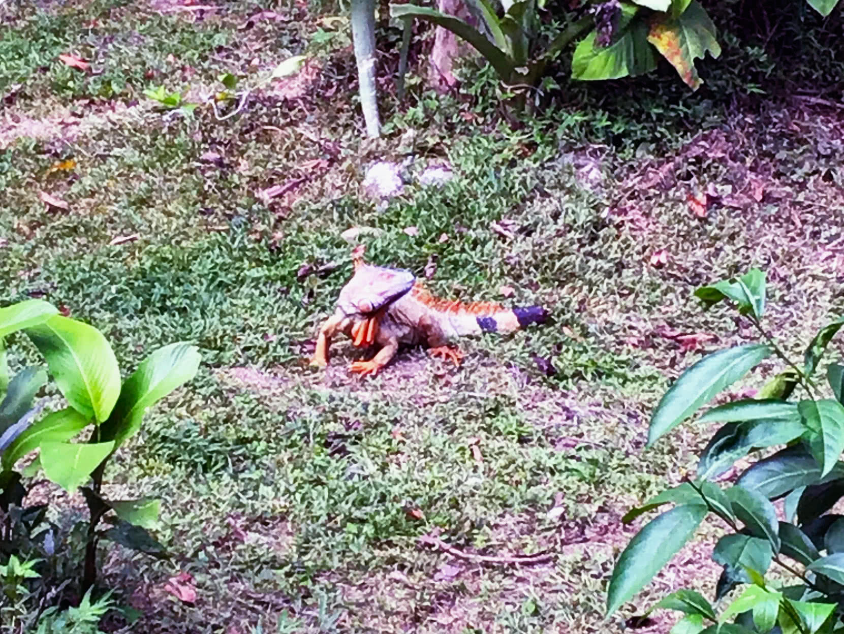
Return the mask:
[[(625, 515), (624, 521), (630, 522), (674, 504), (641, 528), (619, 556), (609, 582), (608, 614), (643, 588), (712, 513), (731, 530), (712, 552), (712, 559), (723, 567), (716, 600), (738, 585), (747, 587), (720, 615), (700, 593), (684, 589), (669, 595), (651, 610), (683, 612), (673, 631), (841, 631), (844, 516), (829, 511), (844, 496), (844, 462), (839, 460), (844, 450), (844, 365), (826, 368), (829, 387), (822, 386), (815, 373), (844, 319), (820, 329), (798, 366), (763, 326), (765, 274), (752, 270), (695, 295), (708, 306), (733, 301), (762, 341), (706, 355), (684, 371), (652, 415), (648, 447), (761, 360), (776, 355), (784, 368), (756, 398), (719, 405), (701, 417), (723, 425), (703, 450), (695, 480), (663, 490)], [(791, 399), (798, 390), (800, 398)], [(782, 445), (786, 447), (744, 469), (732, 486), (722, 488), (713, 481), (750, 452)], [(772, 504), (781, 498), (785, 521), (777, 518)], [(766, 580), (771, 566), (780, 569), (779, 577), (790, 577), (789, 582)]]

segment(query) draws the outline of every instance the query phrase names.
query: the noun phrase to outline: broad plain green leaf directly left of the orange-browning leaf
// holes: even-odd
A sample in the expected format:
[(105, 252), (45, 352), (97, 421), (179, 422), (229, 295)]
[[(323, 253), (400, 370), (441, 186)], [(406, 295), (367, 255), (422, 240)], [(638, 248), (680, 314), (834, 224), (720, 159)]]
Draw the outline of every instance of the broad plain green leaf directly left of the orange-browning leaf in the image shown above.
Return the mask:
[(609, 46), (598, 46), (597, 31), (579, 42), (571, 58), (572, 79), (619, 79), (650, 73), (657, 68), (657, 56), (647, 43), (647, 19), (639, 7), (620, 3), (618, 29)]

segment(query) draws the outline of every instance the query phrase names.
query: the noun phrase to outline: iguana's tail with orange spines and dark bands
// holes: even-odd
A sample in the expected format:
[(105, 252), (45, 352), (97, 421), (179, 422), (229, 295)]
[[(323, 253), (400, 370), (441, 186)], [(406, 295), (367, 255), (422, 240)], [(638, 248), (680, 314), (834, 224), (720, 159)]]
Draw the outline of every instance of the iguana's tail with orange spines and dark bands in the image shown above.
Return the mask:
[(494, 301), (443, 300), (431, 295), (422, 284), (414, 284), (411, 295), (439, 314), (449, 337), (480, 333), (511, 333), (532, 323), (544, 323), (548, 312), (542, 306), (507, 308)]

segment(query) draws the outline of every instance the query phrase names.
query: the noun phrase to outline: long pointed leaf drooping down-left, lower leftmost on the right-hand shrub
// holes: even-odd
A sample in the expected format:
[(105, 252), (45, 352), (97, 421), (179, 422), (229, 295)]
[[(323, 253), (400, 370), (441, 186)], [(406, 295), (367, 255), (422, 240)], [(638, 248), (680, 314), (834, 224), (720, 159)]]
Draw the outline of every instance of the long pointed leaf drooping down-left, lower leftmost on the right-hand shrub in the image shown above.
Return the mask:
[(630, 540), (613, 569), (607, 592), (607, 614), (644, 588), (695, 534), (706, 517), (703, 504), (684, 504), (664, 512)]

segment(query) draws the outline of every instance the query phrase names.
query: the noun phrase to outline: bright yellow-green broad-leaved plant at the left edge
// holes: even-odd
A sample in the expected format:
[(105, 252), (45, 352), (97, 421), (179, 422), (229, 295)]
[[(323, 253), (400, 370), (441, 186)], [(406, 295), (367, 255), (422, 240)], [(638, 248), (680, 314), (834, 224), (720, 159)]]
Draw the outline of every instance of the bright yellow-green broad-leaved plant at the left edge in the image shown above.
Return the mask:
[[(40, 419), (49, 399), (35, 406), (33, 401), (46, 384), (46, 371), (26, 367), (9, 380), (3, 338), (18, 330), (41, 352), (67, 403)], [(195, 346), (170, 344), (155, 350), (121, 382), (114, 352), (96, 328), (63, 317), (46, 301), (0, 308), (0, 510), (9, 521), (3, 544), (14, 547), (13, 518), (28, 534), (43, 520), (43, 507), (21, 508), (26, 490), (23, 475), (14, 470), (21, 458), (37, 451), (26, 473), (43, 469), (48, 480), (68, 491), (81, 487), (88, 504), (83, 591), (95, 583), (99, 539), (163, 556), (164, 548), (147, 530), (157, 521), (159, 501), (105, 500), (100, 496), (103, 474), (117, 448), (138, 432), (147, 409), (192, 379), (199, 360)], [(72, 442), (86, 430), (88, 442)], [(98, 530), (100, 520), (111, 528)]]

